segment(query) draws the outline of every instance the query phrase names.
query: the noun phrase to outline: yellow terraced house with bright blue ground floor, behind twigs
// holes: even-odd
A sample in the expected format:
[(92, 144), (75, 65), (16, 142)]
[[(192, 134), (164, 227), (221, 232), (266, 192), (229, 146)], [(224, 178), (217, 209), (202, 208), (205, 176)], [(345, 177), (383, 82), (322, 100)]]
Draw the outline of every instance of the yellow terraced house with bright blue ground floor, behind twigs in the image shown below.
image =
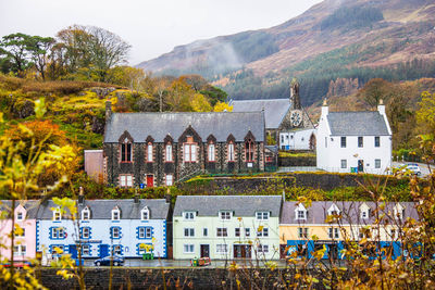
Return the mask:
[[(373, 229), (376, 214), (385, 214), (388, 222)], [(284, 202), (279, 220), (281, 254), (283, 257), (296, 251), (298, 256), (311, 256), (325, 245), (324, 259), (330, 255), (341, 259), (345, 241), (361, 239), (399, 247), (399, 225), (407, 217), (418, 218), (411, 202), (387, 203), (382, 209), (373, 202), (319, 201), (311, 206)]]

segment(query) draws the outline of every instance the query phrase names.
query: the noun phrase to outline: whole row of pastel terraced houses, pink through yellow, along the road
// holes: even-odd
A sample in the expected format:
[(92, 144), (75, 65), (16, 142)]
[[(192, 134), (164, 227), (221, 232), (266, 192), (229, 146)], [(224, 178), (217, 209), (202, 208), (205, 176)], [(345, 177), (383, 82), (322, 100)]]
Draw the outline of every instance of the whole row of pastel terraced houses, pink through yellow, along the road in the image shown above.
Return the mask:
[[(0, 220), (0, 243), (11, 244), (12, 203), (2, 201), (9, 212)], [(290, 253), (311, 256), (326, 247), (324, 259), (343, 259), (345, 240), (375, 239), (381, 247), (400, 255), (400, 224), (408, 217), (418, 219), (413, 203), (387, 203), (381, 210), (371, 202), (312, 202), (304, 206), (283, 202), (281, 196), (181, 196), (172, 210), (164, 199), (77, 201), (77, 219), (62, 214), (52, 201), (16, 202), (13, 211), (15, 261), (34, 259), (36, 252), (73, 257), (82, 251), (84, 259), (111, 253), (124, 257), (212, 260), (277, 260)], [(387, 222), (378, 232), (369, 230), (375, 213)], [(336, 218), (339, 216), (339, 218)], [(313, 238), (315, 237), (315, 239)], [(0, 255), (10, 257), (1, 248)]]

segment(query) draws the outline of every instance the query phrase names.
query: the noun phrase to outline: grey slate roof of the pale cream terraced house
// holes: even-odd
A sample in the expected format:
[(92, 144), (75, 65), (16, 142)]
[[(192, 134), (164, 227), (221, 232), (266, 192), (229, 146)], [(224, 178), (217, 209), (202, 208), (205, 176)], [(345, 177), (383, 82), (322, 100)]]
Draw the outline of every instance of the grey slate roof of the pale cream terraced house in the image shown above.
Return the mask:
[(235, 216), (254, 216), (256, 212), (271, 212), (278, 217), (281, 196), (178, 196), (174, 216), (183, 212), (197, 212), (198, 216), (217, 216), (220, 211), (234, 211)]

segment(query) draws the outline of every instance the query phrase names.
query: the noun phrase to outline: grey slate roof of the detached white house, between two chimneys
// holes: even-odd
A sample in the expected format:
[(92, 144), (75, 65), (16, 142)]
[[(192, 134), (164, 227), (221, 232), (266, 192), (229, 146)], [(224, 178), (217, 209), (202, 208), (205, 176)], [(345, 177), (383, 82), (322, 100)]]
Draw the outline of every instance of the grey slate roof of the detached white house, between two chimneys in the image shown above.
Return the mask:
[(332, 136), (388, 136), (380, 112), (330, 112), (327, 121)]

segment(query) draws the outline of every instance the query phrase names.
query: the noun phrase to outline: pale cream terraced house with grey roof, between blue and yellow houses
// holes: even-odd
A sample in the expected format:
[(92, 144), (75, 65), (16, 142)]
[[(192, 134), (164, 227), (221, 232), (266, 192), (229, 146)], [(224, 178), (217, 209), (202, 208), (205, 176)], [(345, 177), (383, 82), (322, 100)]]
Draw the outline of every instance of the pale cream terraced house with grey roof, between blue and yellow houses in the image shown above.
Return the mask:
[(279, 259), (281, 196), (178, 196), (174, 259)]

